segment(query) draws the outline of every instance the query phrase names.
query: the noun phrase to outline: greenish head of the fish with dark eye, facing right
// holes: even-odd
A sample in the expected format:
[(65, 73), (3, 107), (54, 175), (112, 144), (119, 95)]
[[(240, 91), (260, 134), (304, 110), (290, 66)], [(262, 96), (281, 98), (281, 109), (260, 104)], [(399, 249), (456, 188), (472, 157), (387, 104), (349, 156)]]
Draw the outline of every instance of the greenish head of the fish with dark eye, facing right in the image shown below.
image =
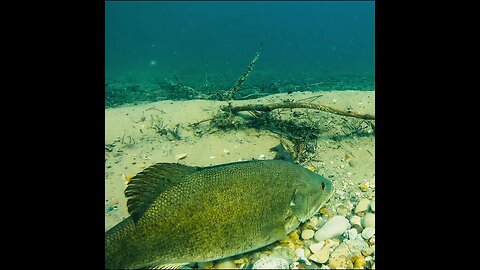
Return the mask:
[(290, 207), (300, 222), (313, 217), (332, 197), (334, 186), (327, 178), (305, 169), (296, 187)]

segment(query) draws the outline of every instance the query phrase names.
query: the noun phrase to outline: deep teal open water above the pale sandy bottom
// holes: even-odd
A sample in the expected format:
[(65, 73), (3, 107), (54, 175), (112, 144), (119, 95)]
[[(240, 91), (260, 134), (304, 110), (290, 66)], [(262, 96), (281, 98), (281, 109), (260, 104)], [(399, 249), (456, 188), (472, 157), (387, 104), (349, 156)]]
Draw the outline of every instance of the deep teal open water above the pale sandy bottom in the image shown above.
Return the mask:
[[(374, 10), (371, 1), (107, 1), (106, 106), (214, 98), (261, 43), (243, 91), (374, 90)], [(178, 84), (197, 94), (172, 94)]]

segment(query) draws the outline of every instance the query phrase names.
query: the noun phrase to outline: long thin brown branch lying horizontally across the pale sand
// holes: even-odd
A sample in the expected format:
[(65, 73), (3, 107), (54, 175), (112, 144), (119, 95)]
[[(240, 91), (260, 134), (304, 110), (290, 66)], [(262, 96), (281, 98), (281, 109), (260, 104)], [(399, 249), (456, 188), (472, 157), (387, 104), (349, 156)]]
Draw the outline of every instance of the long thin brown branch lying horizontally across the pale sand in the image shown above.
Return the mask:
[(223, 111), (231, 111), (231, 112), (239, 112), (239, 111), (269, 112), (275, 109), (298, 109), (298, 108), (320, 110), (324, 112), (329, 112), (329, 113), (348, 116), (348, 117), (360, 118), (365, 120), (375, 120), (375, 115), (355, 113), (351, 111), (342, 111), (339, 109), (332, 108), (330, 106), (313, 104), (313, 103), (284, 102), (284, 103), (272, 103), (272, 104), (247, 104), (247, 105), (241, 105), (241, 106), (231, 106), (230, 104), (228, 106), (222, 107), (221, 109)]

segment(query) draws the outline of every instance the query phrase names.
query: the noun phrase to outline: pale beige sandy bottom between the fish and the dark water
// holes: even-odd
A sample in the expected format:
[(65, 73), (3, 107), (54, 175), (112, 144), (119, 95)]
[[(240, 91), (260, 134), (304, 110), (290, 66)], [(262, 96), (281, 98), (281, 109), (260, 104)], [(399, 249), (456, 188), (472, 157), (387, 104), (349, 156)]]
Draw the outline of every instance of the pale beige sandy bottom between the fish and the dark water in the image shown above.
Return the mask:
[[(374, 91), (295, 92), (255, 100), (235, 101), (234, 105), (250, 103), (298, 101), (323, 95), (314, 102), (338, 109), (375, 115)], [(188, 100), (159, 101), (105, 110), (105, 231), (128, 216), (123, 194), (126, 178), (158, 162), (179, 162), (185, 165), (210, 166), (238, 160), (271, 159), (269, 149), (282, 140), (268, 130), (254, 128), (206, 132), (201, 137), (189, 125), (212, 118), (224, 101)], [(305, 112), (305, 109), (299, 109)], [(311, 110), (310, 110), (311, 111)], [(328, 117), (338, 127), (349, 117), (316, 112)], [(153, 117), (153, 118), (152, 118)], [(302, 116), (300, 116), (302, 117)], [(181, 139), (162, 136), (152, 128), (152, 119), (163, 121), (169, 129), (178, 125)], [(208, 126), (206, 121), (199, 126)], [(337, 192), (327, 204), (351, 209), (360, 198), (375, 200), (375, 136), (344, 136), (334, 139), (334, 129), (317, 141), (316, 159), (302, 164), (334, 182)], [(337, 134), (339, 135), (339, 134)], [(186, 157), (180, 160), (181, 155)], [(176, 157), (177, 156), (177, 157)], [(362, 191), (360, 184), (367, 183)], [(340, 192), (339, 192), (340, 191)]]

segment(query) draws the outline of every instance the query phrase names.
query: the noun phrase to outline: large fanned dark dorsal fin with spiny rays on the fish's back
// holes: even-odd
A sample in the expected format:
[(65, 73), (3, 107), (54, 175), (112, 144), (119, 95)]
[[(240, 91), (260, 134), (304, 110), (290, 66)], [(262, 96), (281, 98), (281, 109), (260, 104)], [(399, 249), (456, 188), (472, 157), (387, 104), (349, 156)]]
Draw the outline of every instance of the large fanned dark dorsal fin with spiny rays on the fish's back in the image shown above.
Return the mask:
[(160, 193), (199, 169), (176, 163), (157, 163), (135, 175), (125, 189), (128, 213), (133, 221), (138, 221)]

